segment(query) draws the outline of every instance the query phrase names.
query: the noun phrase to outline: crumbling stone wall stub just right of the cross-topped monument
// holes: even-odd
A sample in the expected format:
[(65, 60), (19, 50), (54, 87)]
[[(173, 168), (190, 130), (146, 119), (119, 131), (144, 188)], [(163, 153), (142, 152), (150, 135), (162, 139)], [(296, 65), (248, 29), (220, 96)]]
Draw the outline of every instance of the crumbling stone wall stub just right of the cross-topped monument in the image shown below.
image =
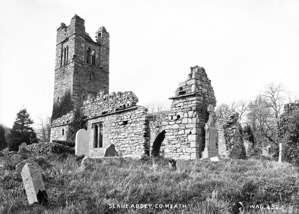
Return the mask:
[(238, 118), (239, 113), (233, 112), (218, 120), (218, 152), (221, 156), (239, 159), (246, 152)]

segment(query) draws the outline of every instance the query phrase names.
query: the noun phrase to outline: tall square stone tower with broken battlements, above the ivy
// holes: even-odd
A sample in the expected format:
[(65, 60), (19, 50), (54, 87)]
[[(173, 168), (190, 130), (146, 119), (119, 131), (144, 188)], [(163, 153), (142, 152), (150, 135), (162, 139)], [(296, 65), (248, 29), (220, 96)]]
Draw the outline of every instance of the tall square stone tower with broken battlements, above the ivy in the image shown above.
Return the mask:
[(57, 29), (54, 105), (68, 92), (73, 109), (83, 105), (88, 94), (102, 89), (109, 93), (109, 33), (96, 31), (96, 41), (85, 32), (84, 19), (74, 15), (71, 23)]

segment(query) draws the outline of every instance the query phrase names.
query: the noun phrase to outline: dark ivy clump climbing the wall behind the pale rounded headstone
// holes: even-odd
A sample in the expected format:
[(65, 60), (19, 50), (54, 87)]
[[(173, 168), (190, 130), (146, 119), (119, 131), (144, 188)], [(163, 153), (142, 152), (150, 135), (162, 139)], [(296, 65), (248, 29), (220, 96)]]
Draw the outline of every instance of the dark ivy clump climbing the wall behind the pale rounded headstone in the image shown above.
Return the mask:
[(78, 108), (74, 111), (73, 120), (68, 125), (66, 140), (72, 142), (75, 145), (76, 133), (82, 128), (87, 130), (87, 124), (86, 124), (86, 120), (84, 120), (83, 110)]

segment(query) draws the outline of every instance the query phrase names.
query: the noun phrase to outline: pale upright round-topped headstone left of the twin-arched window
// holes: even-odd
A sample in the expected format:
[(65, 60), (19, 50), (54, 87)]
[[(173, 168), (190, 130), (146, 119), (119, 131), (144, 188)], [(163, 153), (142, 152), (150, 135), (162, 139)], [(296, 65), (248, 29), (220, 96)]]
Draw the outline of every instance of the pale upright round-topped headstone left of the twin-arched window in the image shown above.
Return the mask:
[(89, 156), (89, 134), (84, 128), (76, 133), (75, 155)]

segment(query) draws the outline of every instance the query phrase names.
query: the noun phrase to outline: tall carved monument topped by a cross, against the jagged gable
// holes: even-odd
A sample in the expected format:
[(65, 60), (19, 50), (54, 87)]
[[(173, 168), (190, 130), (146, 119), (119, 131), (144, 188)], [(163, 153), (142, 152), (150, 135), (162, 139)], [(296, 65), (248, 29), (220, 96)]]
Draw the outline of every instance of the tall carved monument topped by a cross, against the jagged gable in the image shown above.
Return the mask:
[(209, 105), (207, 111), (209, 112), (209, 120), (205, 125), (205, 149), (202, 152), (202, 158), (216, 157), (216, 128), (213, 120), (215, 114), (214, 106)]

